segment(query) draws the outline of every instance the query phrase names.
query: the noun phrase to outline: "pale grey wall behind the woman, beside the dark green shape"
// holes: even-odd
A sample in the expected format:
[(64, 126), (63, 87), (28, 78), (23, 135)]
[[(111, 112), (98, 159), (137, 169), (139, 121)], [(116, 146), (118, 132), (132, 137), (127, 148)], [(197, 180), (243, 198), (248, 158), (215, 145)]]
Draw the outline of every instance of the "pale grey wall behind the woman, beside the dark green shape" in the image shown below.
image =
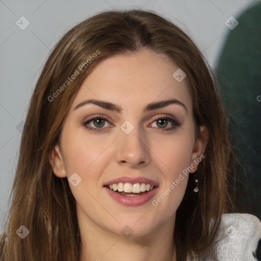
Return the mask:
[[(8, 1), (0, 0), (0, 227), (6, 219), (22, 121), (41, 68), (60, 37), (97, 12), (142, 8), (170, 18), (185, 30), (215, 67), (230, 30), (225, 21), (253, 6), (253, 0)], [(21, 30), (16, 21), (30, 24)], [(26, 193), (26, 188), (24, 189)]]

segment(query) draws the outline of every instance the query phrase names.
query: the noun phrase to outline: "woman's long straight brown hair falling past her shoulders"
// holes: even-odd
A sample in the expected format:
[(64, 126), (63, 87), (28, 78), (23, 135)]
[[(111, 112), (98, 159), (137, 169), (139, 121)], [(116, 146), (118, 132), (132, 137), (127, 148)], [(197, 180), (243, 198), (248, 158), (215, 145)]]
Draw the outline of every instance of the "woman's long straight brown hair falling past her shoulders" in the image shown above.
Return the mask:
[[(197, 170), (200, 189), (193, 192), (190, 175), (176, 213), (173, 237), (177, 260), (185, 260), (193, 252), (203, 260), (212, 252), (221, 215), (227, 211), (232, 155), (215, 74), (176, 25), (152, 11), (131, 10), (102, 12), (86, 19), (66, 33), (49, 55), (23, 128), (11, 207), (1, 237), (1, 260), (80, 259), (75, 199), (67, 178), (53, 173), (48, 155), (59, 141), (63, 120), (92, 68), (107, 57), (141, 48), (167, 55), (187, 74), (195, 133), (199, 134), (200, 125), (208, 129), (205, 159)], [(79, 75), (68, 84), (75, 70)], [(16, 234), (21, 225), (30, 231), (24, 239)]]

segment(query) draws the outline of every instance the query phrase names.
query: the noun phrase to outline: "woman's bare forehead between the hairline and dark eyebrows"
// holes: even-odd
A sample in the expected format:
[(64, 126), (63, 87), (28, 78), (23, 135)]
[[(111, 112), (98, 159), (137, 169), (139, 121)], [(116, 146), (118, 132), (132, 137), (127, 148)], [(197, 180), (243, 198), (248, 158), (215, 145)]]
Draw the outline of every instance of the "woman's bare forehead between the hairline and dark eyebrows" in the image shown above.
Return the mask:
[(109, 57), (86, 77), (73, 106), (87, 98), (108, 100), (123, 108), (175, 98), (186, 103), (190, 111), (192, 99), (186, 78), (177, 82), (172, 76), (177, 69), (167, 56), (147, 49)]

